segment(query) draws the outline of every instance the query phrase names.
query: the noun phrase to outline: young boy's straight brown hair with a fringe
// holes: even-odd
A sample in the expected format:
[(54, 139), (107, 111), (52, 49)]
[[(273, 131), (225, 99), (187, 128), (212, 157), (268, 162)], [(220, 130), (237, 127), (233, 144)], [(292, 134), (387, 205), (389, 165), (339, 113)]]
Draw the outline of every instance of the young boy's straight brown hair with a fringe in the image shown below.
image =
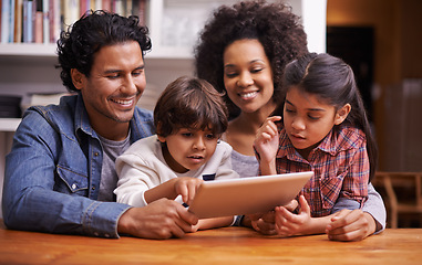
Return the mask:
[(210, 129), (218, 137), (227, 129), (227, 107), (208, 82), (182, 76), (172, 82), (154, 108), (154, 124), (159, 136), (179, 128)]

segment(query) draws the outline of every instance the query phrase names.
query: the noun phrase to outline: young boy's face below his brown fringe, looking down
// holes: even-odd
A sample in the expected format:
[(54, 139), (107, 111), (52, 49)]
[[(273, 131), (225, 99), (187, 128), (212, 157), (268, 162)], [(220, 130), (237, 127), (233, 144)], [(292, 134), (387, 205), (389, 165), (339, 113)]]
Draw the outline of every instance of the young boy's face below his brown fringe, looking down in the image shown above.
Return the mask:
[(217, 147), (218, 136), (209, 129), (181, 128), (169, 136), (158, 136), (158, 139), (166, 142), (163, 155), (168, 167), (184, 173), (198, 169), (209, 160)]

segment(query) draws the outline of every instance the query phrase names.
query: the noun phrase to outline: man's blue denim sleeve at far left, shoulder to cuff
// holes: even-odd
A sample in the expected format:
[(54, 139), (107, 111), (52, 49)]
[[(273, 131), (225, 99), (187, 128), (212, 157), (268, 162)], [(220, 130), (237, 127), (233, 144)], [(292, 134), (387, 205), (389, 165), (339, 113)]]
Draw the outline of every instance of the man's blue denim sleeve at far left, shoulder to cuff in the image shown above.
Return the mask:
[(86, 190), (56, 190), (59, 137), (39, 114), (29, 114), (22, 120), (6, 160), (4, 224), (16, 230), (119, 237), (117, 222), (128, 205), (81, 195)]

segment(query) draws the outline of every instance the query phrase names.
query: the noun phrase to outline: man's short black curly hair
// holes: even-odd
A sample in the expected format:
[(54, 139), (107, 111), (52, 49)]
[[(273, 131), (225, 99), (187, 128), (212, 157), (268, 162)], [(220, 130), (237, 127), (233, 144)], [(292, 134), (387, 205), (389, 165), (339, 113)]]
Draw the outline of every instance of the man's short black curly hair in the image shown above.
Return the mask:
[(94, 54), (101, 47), (136, 41), (142, 54), (151, 50), (148, 29), (140, 25), (136, 15), (128, 18), (97, 10), (85, 13), (66, 31), (62, 31), (58, 40), (60, 77), (68, 91), (78, 91), (71, 77), (71, 70), (76, 68), (90, 76)]

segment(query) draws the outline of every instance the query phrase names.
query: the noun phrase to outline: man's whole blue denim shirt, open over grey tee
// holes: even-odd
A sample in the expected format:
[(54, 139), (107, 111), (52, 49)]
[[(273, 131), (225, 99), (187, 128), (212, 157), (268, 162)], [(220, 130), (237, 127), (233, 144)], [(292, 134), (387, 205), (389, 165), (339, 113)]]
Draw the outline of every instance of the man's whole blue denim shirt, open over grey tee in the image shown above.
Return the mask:
[[(110, 128), (111, 130), (113, 128)], [(131, 142), (155, 132), (150, 110), (137, 108)], [(103, 152), (82, 96), (29, 108), (6, 158), (3, 219), (9, 229), (119, 237), (130, 208), (96, 201)]]

